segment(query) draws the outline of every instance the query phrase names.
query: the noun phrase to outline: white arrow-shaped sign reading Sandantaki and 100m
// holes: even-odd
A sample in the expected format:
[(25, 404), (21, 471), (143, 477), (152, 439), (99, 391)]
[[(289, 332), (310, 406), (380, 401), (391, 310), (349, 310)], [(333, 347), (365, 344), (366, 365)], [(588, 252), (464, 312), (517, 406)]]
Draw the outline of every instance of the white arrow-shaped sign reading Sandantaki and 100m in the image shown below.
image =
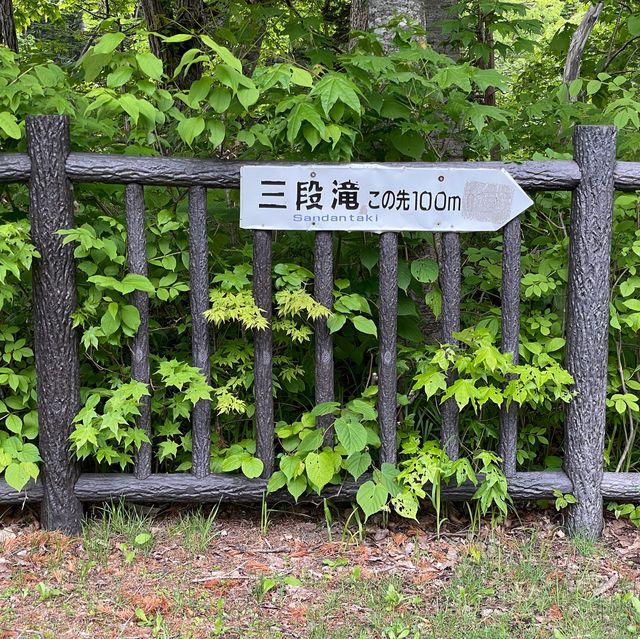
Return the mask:
[(504, 169), (243, 166), (240, 226), (291, 231), (495, 231), (532, 201)]

